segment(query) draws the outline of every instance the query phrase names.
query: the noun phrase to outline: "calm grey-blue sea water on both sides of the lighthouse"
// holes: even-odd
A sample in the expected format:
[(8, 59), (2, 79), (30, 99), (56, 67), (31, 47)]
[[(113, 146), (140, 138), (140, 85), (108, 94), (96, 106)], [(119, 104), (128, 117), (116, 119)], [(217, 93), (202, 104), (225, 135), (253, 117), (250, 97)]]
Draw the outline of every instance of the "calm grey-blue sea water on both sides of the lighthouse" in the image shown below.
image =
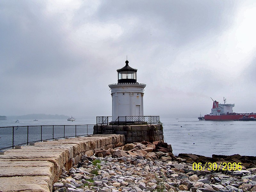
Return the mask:
[[(172, 145), (173, 154), (192, 153), (204, 156), (248, 155), (256, 156), (256, 121), (198, 121), (197, 119), (160, 118), (164, 128), (164, 140)], [(27, 125), (75, 125), (95, 124), (95, 119), (67, 120), (15, 120), (0, 121), (3, 126)], [(88, 134), (92, 134), (92, 128)], [(1, 137), (1, 136), (0, 136)]]

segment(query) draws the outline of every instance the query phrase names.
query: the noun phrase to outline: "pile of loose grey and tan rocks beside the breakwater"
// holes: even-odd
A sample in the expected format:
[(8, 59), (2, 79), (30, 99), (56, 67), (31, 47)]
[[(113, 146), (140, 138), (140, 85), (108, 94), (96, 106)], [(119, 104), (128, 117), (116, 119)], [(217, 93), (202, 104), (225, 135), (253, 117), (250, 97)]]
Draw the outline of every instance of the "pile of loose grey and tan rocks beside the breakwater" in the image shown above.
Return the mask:
[(241, 171), (225, 172), (220, 166), (215, 172), (198, 171), (193, 169), (191, 159), (200, 157), (192, 154), (181, 156), (186, 159), (173, 156), (171, 145), (163, 142), (100, 149), (95, 156), (84, 155), (79, 164), (63, 171), (60, 180), (53, 184), (53, 191), (256, 192), (256, 168), (246, 169), (242, 165)]

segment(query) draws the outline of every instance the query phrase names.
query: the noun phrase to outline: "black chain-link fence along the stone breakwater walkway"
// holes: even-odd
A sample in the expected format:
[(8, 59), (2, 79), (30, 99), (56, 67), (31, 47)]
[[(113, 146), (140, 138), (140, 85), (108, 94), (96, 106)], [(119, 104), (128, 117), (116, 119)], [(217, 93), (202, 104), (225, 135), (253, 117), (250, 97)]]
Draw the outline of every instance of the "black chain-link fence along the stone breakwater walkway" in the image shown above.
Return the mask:
[(15, 145), (28, 145), (30, 142), (87, 136), (93, 133), (94, 125), (95, 124), (0, 127), (0, 150), (14, 148)]

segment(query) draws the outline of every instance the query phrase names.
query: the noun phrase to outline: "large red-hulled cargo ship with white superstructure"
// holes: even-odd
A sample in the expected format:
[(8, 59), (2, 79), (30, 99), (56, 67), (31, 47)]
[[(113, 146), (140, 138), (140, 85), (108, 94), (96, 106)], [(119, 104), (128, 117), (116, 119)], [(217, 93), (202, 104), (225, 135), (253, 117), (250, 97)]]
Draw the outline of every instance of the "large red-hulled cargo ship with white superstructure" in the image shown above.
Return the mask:
[[(212, 99), (212, 98), (211, 98)], [(256, 113), (234, 113), (233, 107), (235, 103), (226, 103), (225, 97), (223, 97), (224, 104), (220, 104), (218, 101), (213, 100), (212, 112), (204, 116), (205, 121), (234, 121), (244, 116), (256, 118)]]

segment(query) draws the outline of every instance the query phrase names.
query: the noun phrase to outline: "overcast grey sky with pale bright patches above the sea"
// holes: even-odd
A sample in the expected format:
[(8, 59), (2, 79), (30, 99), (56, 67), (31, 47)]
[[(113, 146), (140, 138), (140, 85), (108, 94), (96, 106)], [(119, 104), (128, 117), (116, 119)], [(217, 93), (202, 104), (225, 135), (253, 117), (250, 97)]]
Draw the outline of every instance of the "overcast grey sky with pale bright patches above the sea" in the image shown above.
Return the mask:
[(256, 1), (0, 1), (0, 115), (111, 116), (116, 69), (144, 115), (256, 112)]

